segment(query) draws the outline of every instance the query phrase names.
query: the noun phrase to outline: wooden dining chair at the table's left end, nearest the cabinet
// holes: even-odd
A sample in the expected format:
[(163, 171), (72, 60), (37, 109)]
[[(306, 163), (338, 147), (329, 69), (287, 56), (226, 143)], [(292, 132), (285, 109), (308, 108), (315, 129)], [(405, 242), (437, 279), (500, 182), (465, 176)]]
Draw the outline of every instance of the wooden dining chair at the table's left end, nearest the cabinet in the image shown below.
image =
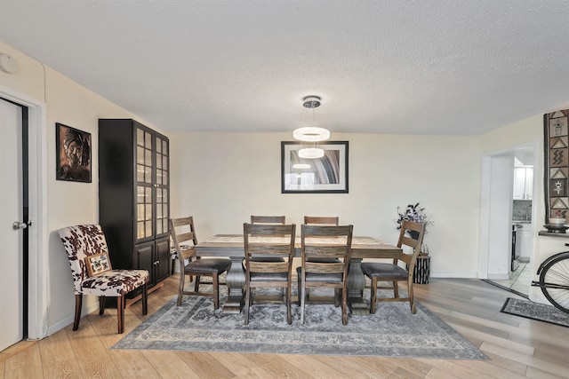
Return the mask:
[[(194, 246), (197, 245), (197, 237), (194, 217), (171, 218), (170, 236), (180, 262), (180, 285), (176, 305), (180, 306), (183, 295), (210, 296), (213, 298), (213, 309), (218, 309), (220, 307), (220, 274), (228, 271), (231, 261), (225, 258), (201, 259), (196, 257)], [(184, 289), (186, 275), (190, 278), (196, 277), (193, 291)], [(199, 291), (200, 284), (209, 284), (201, 282), (202, 276), (212, 278), (212, 292)]]

